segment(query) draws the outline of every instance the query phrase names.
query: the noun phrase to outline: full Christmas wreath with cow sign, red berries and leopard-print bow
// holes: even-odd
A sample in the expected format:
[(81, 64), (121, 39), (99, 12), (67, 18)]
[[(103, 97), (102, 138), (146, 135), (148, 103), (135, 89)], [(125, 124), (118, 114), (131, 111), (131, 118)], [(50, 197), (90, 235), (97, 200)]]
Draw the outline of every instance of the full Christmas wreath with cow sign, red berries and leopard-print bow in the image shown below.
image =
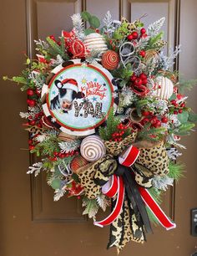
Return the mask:
[[(110, 224), (108, 248), (119, 251), (130, 240), (143, 243), (150, 221), (175, 228), (159, 203), (181, 177), (179, 139), (196, 120), (183, 94), (195, 81), (173, 70), (179, 46), (164, 55), (164, 18), (147, 29), (141, 18), (117, 21), (109, 12), (102, 25), (88, 12), (72, 20), (71, 32), (35, 41), (38, 59), (27, 58), (11, 79), (27, 91), (20, 115), (29, 150), (41, 159), (28, 173), (47, 172), (54, 201), (82, 197), (83, 214)], [(96, 219), (109, 206), (109, 216)]]

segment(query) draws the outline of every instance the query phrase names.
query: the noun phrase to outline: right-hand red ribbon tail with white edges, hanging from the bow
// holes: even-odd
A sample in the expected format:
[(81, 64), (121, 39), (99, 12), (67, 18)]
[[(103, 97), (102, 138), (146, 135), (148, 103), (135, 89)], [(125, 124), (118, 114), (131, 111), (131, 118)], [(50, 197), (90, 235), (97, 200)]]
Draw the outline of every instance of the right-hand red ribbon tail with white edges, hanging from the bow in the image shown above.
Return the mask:
[(150, 211), (153, 212), (155, 218), (158, 219), (159, 223), (167, 230), (176, 228), (176, 224), (173, 223), (159, 207), (159, 204), (155, 202), (154, 198), (150, 195), (147, 189), (139, 187), (139, 192), (143, 198), (145, 204), (149, 207)]

